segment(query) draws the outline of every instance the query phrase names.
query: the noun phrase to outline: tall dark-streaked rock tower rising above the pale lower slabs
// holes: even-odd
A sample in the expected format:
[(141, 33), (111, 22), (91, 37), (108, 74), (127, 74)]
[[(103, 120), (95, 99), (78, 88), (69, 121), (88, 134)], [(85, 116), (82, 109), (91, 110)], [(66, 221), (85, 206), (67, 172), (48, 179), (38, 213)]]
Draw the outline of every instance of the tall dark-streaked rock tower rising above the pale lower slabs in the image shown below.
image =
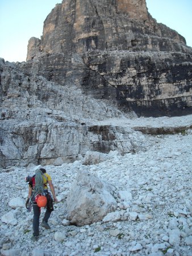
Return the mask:
[(27, 66), (126, 112), (178, 115), (191, 113), (191, 52), (144, 0), (62, 1), (30, 39)]

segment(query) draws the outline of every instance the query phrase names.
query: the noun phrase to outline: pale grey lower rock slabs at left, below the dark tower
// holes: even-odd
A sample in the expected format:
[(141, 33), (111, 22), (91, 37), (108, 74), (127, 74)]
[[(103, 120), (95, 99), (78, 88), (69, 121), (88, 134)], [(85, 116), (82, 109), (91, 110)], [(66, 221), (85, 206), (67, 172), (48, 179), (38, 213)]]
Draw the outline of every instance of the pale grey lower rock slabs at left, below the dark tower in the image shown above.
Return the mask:
[(131, 129), (93, 125), (121, 117), (118, 109), (90, 97), (81, 88), (23, 73), (19, 64), (1, 60), (0, 166), (55, 164), (81, 159), (86, 151), (126, 152), (140, 148)]

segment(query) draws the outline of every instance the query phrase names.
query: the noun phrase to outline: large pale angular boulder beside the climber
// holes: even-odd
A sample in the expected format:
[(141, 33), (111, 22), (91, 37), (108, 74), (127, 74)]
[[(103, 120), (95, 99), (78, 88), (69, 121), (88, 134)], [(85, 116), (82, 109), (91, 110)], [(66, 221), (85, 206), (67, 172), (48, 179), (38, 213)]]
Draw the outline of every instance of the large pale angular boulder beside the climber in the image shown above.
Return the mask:
[(70, 222), (83, 226), (101, 221), (107, 213), (114, 211), (117, 203), (112, 188), (89, 172), (78, 172), (66, 200)]

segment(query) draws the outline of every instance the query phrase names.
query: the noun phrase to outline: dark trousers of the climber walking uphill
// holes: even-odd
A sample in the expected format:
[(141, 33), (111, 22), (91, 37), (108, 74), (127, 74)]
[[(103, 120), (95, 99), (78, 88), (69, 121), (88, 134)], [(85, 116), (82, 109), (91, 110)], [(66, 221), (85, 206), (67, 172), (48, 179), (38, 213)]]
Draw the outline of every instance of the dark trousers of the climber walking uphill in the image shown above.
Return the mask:
[[(39, 236), (39, 217), (41, 214), (41, 208), (37, 206), (36, 203), (32, 203), (32, 207), (34, 210), (34, 220), (33, 220), (33, 229), (34, 229), (34, 236)], [(48, 222), (48, 219), (51, 215), (51, 212), (49, 209), (46, 210), (45, 216), (43, 218), (43, 221)]]

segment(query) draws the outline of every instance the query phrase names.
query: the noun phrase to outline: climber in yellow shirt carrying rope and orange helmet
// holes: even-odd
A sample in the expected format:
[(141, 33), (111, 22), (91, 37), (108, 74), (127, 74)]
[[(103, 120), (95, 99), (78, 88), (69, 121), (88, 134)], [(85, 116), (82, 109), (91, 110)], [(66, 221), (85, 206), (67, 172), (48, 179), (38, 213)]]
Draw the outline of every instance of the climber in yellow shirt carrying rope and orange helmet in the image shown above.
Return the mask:
[[(29, 208), (30, 201), (32, 201), (32, 208), (34, 210), (34, 218), (33, 218), (34, 233), (32, 236), (32, 241), (37, 241), (39, 236), (39, 218), (41, 213), (41, 207), (45, 207), (47, 205), (47, 209), (41, 225), (45, 229), (51, 229), (48, 224), (48, 219), (51, 215), (51, 212), (53, 211), (53, 200), (57, 202), (57, 197), (55, 195), (55, 188), (53, 186), (51, 176), (46, 173), (46, 170), (44, 168), (38, 168), (35, 171), (34, 176), (26, 177), (26, 182), (28, 182), (29, 184), (26, 208), (27, 209)], [(53, 199), (51, 197), (51, 193), (48, 192), (48, 187), (47, 187), (48, 184), (51, 189)]]

